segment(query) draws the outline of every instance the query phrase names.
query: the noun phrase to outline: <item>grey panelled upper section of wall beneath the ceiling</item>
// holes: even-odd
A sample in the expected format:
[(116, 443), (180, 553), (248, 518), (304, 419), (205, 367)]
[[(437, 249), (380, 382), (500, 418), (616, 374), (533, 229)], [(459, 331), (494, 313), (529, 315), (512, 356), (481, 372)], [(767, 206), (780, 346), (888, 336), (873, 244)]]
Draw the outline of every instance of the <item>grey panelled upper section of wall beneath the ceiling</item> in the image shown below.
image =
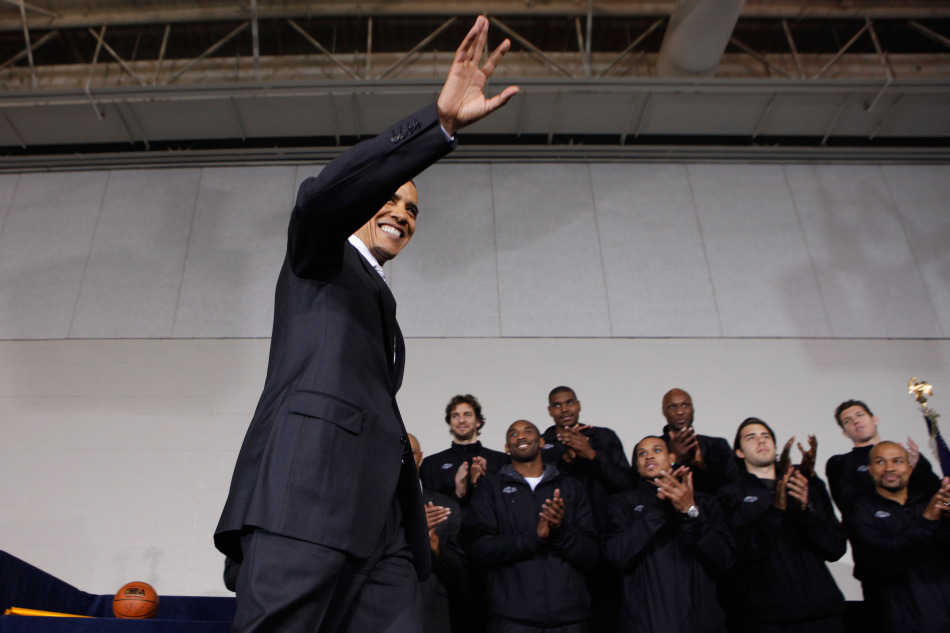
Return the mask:
[[(0, 176), (0, 339), (270, 336), (314, 167)], [(950, 165), (440, 164), (407, 336), (939, 338)]]

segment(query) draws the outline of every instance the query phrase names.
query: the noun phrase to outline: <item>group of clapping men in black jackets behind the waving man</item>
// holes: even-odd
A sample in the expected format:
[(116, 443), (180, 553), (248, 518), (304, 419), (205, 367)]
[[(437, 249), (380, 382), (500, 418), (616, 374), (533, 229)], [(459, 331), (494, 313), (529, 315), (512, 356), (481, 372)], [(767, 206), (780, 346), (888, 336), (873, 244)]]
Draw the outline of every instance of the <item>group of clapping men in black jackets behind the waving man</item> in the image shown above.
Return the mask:
[(518, 420), (505, 453), (478, 441), (472, 395), (452, 398), (449, 449), (422, 459), (412, 438), (435, 574), (428, 631), (491, 633), (847, 630), (827, 562), (854, 547), (868, 621), (950, 630), (950, 479), (908, 438), (882, 442), (862, 402), (835, 411), (854, 450), (828, 460), (835, 515), (815, 472), (817, 441), (779, 451), (748, 418), (730, 447), (695, 432), (682, 389), (631, 466), (612, 430), (582, 424), (569, 387), (548, 397), (543, 433)]

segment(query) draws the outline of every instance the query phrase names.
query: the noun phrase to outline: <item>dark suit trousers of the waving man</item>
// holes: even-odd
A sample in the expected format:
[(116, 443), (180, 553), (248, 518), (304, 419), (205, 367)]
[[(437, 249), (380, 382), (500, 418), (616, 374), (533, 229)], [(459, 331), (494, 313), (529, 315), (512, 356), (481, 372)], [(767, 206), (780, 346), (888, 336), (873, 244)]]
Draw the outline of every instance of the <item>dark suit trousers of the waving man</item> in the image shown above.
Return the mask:
[(396, 500), (356, 558), (261, 529), (241, 537), (232, 633), (422, 633), (422, 594)]

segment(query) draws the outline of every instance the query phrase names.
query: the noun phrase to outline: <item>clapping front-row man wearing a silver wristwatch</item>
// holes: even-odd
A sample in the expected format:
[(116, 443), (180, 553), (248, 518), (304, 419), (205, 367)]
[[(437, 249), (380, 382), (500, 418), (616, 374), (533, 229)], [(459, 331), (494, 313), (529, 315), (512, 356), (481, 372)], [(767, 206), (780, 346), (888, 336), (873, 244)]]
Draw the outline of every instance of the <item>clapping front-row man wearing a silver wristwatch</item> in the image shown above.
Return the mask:
[(716, 578), (735, 555), (714, 497), (696, 492), (689, 468), (672, 470), (666, 441), (634, 449), (640, 485), (611, 499), (604, 557), (620, 570), (621, 633), (721, 633)]

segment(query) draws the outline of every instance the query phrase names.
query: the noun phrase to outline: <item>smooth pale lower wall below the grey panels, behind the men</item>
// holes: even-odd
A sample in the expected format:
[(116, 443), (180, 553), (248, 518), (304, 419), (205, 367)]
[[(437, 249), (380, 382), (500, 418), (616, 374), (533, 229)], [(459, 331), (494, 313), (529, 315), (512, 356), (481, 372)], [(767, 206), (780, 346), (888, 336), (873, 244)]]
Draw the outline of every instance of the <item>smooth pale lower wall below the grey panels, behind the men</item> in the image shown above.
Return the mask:
[[(428, 453), (448, 444), (458, 392), (480, 398), (483, 441), (501, 449), (515, 419), (547, 425), (548, 390), (568, 384), (581, 419), (629, 452), (680, 386), (702, 432), (731, 439), (760, 416), (783, 437), (816, 433), (822, 464), (850, 448), (831, 415), (842, 400), (866, 399), (885, 437), (921, 445), (907, 380), (950, 406), (948, 341), (411, 339), (407, 354), (400, 407)], [(145, 580), (224, 594), (211, 535), (266, 359), (263, 339), (0, 342), (0, 548), (95, 593)], [(850, 565), (836, 573), (858, 598)]]

